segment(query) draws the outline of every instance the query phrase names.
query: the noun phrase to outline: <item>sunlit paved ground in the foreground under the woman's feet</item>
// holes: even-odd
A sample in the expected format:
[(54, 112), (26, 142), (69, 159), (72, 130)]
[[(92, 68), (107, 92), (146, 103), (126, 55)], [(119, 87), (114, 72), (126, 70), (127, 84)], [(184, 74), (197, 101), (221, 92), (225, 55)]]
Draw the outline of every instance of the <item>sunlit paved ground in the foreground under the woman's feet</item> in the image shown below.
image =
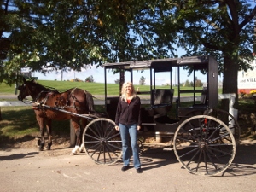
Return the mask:
[(143, 153), (143, 173), (121, 172), (122, 163), (96, 165), (71, 148), (38, 152), (37, 148), (0, 150), (0, 191), (180, 191), (251, 192), (256, 188), (256, 143), (243, 143), (222, 176), (207, 177), (182, 169), (173, 151)]

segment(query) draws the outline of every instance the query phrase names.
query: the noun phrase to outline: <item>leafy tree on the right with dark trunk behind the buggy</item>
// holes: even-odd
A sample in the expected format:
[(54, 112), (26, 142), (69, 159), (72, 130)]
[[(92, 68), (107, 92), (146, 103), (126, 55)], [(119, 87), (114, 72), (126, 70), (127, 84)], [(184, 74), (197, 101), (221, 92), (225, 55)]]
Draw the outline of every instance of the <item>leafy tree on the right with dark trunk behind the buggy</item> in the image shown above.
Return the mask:
[(245, 0), (184, 0), (176, 5), (174, 14), (163, 18), (175, 17), (177, 45), (186, 49), (187, 55), (214, 55), (218, 59), (223, 93), (236, 93), (237, 107), (237, 73), (247, 70), (253, 59), (256, 6), (250, 8)]

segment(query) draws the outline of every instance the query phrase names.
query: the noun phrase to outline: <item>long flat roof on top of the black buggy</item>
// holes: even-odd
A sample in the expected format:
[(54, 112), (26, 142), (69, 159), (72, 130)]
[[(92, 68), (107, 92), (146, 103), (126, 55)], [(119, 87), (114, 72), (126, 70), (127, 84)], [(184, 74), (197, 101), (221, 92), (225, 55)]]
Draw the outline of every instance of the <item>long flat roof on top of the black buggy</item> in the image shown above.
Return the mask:
[(126, 61), (105, 63), (105, 68), (122, 68), (122, 69), (145, 69), (153, 68), (156, 72), (172, 71), (172, 67), (193, 65), (195, 68), (205, 68), (208, 65), (210, 56), (189, 56), (181, 58), (155, 59), (144, 61)]

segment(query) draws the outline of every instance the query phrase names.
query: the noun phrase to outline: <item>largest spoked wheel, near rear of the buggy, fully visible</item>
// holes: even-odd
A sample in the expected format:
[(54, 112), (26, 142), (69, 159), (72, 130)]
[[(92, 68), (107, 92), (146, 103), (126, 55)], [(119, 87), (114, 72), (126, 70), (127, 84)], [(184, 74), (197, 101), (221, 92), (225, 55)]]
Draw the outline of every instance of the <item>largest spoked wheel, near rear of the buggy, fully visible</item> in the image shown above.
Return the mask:
[(177, 160), (194, 174), (216, 175), (224, 172), (236, 154), (235, 137), (229, 127), (208, 115), (184, 120), (173, 140)]

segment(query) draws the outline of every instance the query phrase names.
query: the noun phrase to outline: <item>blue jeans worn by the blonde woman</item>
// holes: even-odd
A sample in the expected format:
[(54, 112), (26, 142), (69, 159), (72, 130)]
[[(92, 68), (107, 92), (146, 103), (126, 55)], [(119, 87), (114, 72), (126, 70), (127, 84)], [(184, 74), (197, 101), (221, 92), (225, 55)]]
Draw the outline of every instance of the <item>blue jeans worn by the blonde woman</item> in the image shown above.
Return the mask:
[(131, 157), (130, 145), (131, 145), (132, 155), (133, 155), (133, 166), (136, 169), (141, 168), (141, 162), (139, 159), (139, 149), (137, 145), (137, 124), (133, 124), (133, 125), (119, 124), (119, 130), (122, 138), (124, 166), (129, 166), (130, 164), (130, 157)]

